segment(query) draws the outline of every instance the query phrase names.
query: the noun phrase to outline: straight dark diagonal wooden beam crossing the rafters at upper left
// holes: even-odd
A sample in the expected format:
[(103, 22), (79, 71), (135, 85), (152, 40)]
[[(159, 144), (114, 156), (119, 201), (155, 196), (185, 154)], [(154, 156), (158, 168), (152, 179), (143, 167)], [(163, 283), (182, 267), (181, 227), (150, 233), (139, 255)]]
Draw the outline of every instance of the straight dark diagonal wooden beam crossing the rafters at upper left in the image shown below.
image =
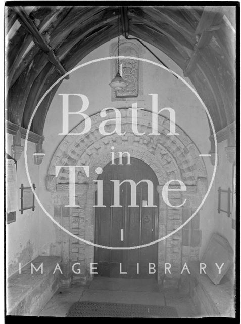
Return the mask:
[[(60, 63), (59, 59), (55, 55), (53, 49), (47, 44), (45, 38), (41, 35), (33, 21), (28, 17), (27, 13), (24, 11), (23, 7), (14, 7), (14, 11), (17, 13), (20, 23), (24, 28), (31, 34), (33, 42), (37, 47), (40, 48), (46, 55), (49, 61), (55, 66), (57, 71), (64, 75), (67, 73), (63, 65)], [(69, 75), (65, 77), (69, 79)]]

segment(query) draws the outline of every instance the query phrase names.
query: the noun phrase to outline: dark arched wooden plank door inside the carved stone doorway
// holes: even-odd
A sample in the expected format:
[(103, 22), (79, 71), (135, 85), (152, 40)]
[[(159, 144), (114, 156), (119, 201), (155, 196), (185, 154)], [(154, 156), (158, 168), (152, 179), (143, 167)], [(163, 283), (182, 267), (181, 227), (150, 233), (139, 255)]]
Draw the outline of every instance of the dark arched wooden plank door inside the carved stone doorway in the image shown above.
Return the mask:
[[(118, 161), (115, 161), (117, 163)], [(136, 205), (130, 205), (130, 184), (120, 187), (120, 205), (111, 207), (114, 201), (114, 186), (110, 180), (134, 180), (135, 183), (149, 179), (154, 187), (154, 205), (158, 206), (158, 181), (153, 170), (141, 160), (131, 158), (131, 165), (108, 164), (98, 179), (103, 180), (103, 205), (95, 207), (95, 242), (104, 246), (130, 247), (152, 242), (158, 237), (158, 207), (145, 207), (148, 200), (148, 186), (140, 183), (136, 189)], [(121, 237), (123, 230), (123, 237)], [(121, 240), (123, 239), (123, 240)], [(121, 278), (156, 278), (157, 244), (133, 250), (110, 250), (95, 248), (95, 262), (98, 275)], [(120, 274), (120, 263), (122, 272)], [(139, 266), (137, 266), (137, 263)], [(155, 263), (156, 274), (149, 274), (149, 263)], [(139, 274), (137, 273), (139, 267)]]

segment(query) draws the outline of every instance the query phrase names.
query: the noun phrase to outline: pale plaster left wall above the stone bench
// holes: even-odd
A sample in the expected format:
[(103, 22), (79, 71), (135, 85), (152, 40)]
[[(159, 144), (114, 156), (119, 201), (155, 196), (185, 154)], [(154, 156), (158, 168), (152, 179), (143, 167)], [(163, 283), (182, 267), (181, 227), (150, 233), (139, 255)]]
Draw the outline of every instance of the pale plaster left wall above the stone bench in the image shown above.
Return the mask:
[[(7, 134), (6, 153), (12, 155), (12, 135)], [(24, 140), (21, 140), (24, 146)], [(39, 166), (33, 163), (33, 153), (35, 144), (28, 144), (29, 173), (32, 182), (36, 185), (36, 192), (39, 192)], [(21, 184), (28, 187), (29, 182), (25, 171), (24, 154), (17, 161), (17, 188)], [(36, 209), (25, 210), (23, 214), (20, 209), (20, 189), (18, 189), (18, 210), (16, 212), (16, 221), (6, 225), (6, 249), (7, 249), (7, 276), (18, 271), (19, 263), (21, 267), (35, 259), (39, 254), (39, 206), (35, 204)]]

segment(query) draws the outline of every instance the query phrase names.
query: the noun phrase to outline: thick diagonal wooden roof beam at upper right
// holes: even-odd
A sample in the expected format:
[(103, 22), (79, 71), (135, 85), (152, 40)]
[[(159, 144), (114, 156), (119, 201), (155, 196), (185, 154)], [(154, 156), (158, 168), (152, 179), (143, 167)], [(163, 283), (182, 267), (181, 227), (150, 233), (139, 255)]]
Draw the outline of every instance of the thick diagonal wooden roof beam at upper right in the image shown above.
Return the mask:
[(195, 30), (197, 43), (194, 46), (194, 52), (187, 63), (186, 68), (183, 71), (184, 76), (188, 76), (192, 70), (194, 70), (199, 60), (199, 49), (207, 46), (213, 36), (213, 31), (220, 28), (221, 21), (223, 19), (223, 12), (221, 6), (206, 6), (204, 8), (201, 19)]

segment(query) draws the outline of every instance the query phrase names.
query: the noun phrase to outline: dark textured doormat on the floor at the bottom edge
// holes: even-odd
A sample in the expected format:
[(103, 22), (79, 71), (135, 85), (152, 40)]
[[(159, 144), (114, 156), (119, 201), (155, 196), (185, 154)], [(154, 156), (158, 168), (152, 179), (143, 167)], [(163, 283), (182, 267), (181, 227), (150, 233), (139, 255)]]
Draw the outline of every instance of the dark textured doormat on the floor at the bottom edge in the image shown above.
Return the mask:
[(76, 302), (68, 312), (67, 317), (179, 317), (174, 307), (117, 304), (99, 302)]

